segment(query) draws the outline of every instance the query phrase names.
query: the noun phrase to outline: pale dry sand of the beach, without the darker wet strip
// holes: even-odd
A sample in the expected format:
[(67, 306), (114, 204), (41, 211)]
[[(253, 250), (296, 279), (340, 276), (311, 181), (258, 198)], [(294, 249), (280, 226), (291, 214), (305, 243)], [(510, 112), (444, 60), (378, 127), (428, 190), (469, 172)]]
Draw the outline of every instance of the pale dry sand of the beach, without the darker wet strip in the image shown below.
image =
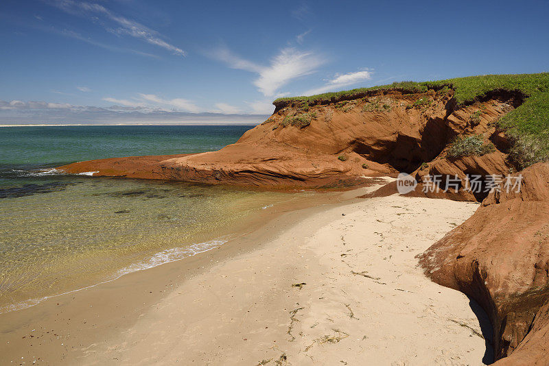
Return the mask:
[(430, 282), (414, 258), (477, 207), (391, 196), (298, 221), (294, 212), (282, 234), (174, 284), (132, 328), (107, 346), (86, 347), (76, 361), (482, 364), (484, 340), (469, 300)]

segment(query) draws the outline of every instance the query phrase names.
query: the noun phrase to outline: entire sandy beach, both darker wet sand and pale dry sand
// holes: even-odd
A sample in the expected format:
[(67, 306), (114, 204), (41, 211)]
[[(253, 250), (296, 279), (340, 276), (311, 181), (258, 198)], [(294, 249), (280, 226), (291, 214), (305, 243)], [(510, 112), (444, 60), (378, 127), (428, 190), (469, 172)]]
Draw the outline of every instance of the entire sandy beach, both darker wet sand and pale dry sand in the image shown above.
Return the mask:
[(414, 258), (477, 207), (390, 196), (287, 212), (219, 249), (0, 315), (0, 353), (27, 365), (480, 365), (475, 305)]

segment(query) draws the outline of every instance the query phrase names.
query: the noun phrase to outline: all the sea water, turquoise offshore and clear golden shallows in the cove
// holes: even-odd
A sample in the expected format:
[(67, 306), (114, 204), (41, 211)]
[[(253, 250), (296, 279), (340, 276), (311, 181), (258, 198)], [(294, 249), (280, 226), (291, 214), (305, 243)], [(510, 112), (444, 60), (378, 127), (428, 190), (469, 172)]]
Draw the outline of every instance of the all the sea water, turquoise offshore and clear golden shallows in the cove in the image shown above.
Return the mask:
[(252, 127), (0, 127), (0, 313), (218, 247), (262, 212), (313, 195), (52, 170), (213, 151)]

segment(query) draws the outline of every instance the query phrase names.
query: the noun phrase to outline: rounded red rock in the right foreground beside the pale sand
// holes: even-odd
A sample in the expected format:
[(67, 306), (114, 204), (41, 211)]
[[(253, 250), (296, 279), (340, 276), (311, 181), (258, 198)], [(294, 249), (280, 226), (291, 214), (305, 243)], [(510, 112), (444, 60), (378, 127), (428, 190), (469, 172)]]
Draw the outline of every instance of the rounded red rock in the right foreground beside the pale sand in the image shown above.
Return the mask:
[(549, 163), (520, 174), (519, 193), (490, 193), (419, 262), (434, 282), (487, 310), (496, 358), (510, 355), (502, 365), (548, 365)]

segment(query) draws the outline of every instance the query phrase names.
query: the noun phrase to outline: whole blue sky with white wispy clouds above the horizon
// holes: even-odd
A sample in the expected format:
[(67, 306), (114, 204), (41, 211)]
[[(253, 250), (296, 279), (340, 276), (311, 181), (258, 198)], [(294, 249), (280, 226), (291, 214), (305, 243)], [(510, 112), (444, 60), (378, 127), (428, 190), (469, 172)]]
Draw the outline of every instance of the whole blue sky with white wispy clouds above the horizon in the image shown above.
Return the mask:
[(548, 14), (541, 0), (2, 0), (0, 124), (259, 122), (285, 95), (549, 71)]

